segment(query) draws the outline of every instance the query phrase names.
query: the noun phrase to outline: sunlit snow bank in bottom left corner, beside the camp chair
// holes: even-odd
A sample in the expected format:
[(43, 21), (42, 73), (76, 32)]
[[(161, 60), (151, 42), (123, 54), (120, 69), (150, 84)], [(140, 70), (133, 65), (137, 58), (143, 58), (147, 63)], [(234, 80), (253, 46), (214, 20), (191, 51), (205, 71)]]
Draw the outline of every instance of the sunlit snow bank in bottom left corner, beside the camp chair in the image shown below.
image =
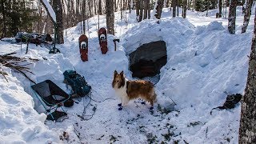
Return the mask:
[(22, 88), (21, 82), (8, 72), (8, 82), (0, 78), (0, 142), (46, 143), (58, 142), (54, 131), (44, 124), (46, 114), (34, 110), (34, 101)]

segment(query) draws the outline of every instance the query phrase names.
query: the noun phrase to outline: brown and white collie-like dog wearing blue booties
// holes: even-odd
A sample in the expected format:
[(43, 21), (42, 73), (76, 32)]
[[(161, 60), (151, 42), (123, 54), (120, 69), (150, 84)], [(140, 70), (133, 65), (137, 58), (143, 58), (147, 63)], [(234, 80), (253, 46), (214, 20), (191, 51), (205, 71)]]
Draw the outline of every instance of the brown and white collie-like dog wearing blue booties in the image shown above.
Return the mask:
[(153, 109), (157, 94), (155, 94), (152, 82), (144, 80), (130, 81), (125, 78), (123, 71), (118, 74), (118, 72), (114, 70), (112, 87), (122, 100), (122, 103), (118, 104), (118, 106), (120, 106), (118, 110), (122, 110), (122, 106), (126, 106), (130, 100), (135, 98), (142, 98), (150, 102), (150, 110)]

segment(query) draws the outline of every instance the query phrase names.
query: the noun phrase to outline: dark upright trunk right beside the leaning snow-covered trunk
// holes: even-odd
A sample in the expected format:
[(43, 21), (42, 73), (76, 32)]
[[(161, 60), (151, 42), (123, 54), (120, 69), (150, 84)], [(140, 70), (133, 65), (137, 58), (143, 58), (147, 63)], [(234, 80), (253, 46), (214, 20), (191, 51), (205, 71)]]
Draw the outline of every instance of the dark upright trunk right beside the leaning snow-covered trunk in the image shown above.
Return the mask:
[(57, 33), (57, 43), (64, 43), (63, 39), (63, 23), (62, 23), (62, 2), (61, 0), (53, 1), (54, 12), (56, 14), (56, 33)]

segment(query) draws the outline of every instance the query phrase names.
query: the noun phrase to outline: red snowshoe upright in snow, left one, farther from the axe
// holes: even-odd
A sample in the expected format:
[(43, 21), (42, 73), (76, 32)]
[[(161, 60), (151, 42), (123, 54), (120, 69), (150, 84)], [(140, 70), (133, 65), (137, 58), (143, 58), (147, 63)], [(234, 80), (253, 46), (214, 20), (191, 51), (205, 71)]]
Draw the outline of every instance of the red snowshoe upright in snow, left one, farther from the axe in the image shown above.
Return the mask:
[(88, 38), (85, 34), (82, 34), (79, 39), (79, 51), (82, 62), (88, 61)]

